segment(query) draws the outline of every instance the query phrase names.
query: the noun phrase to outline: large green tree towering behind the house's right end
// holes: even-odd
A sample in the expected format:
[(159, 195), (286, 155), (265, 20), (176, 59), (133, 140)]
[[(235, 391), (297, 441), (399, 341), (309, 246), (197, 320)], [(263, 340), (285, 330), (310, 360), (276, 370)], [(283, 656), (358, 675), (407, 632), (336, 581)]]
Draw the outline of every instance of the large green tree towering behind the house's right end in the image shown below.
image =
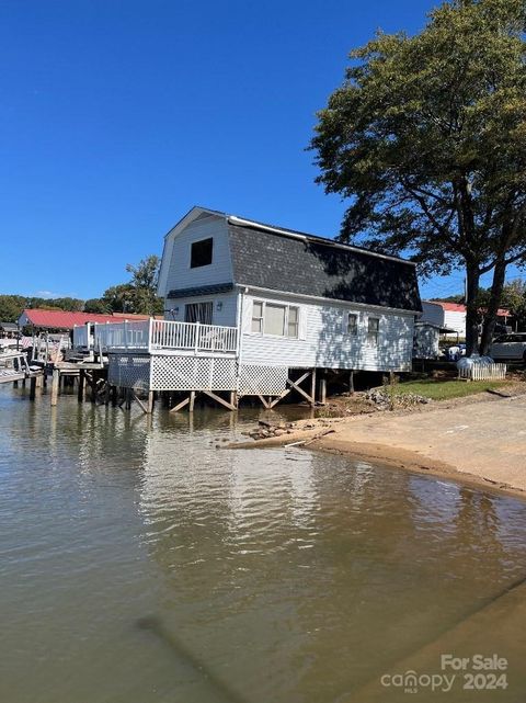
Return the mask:
[(467, 345), (493, 271), (482, 351), (506, 268), (526, 258), (525, 0), (453, 0), (415, 36), (379, 33), (351, 54), (311, 148), (350, 200), (341, 239), (407, 252), (423, 274), (465, 268)]

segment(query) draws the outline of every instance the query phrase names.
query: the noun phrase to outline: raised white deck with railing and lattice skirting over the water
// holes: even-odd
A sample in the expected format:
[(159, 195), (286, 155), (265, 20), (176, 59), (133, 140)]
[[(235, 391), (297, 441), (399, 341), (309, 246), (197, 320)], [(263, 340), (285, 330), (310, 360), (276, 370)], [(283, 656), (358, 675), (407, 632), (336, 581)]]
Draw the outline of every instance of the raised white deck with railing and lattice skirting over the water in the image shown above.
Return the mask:
[(288, 370), (241, 364), (239, 341), (237, 327), (153, 318), (73, 329), (73, 349), (107, 359), (108, 383), (119, 388), (281, 397)]

